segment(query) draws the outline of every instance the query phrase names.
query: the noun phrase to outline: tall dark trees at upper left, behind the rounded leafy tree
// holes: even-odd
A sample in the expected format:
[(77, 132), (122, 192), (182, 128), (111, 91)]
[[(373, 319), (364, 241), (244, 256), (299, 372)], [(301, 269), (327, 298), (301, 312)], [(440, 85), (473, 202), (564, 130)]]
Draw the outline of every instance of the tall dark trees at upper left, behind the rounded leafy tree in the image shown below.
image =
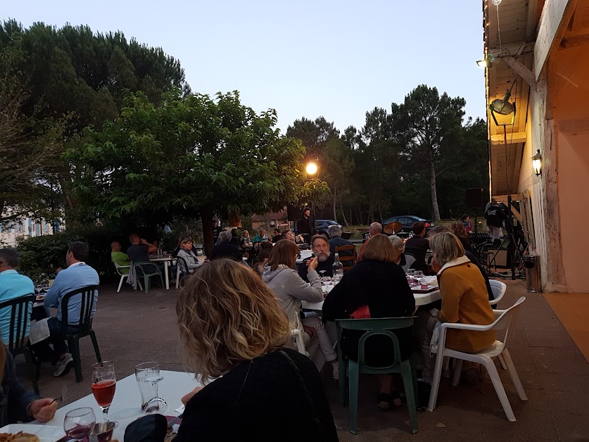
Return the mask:
[[(18, 139), (6, 137), (4, 144), (19, 153), (10, 157), (12, 161), (23, 162), (22, 169), (11, 164), (12, 175), (22, 179), (4, 175), (18, 189), (9, 200), (4, 197), (4, 203), (23, 213), (41, 213), (45, 207), (55, 215), (65, 207), (66, 214), (75, 217), (75, 176), (61, 154), (79, 142), (84, 127), (99, 128), (117, 118), (127, 91), (144, 91), (154, 103), (165, 91), (190, 91), (179, 61), (163, 49), (134, 39), (127, 42), (121, 32), (101, 34), (87, 26), (56, 28), (44, 23), (25, 29), (8, 20), (0, 25), (0, 57), (11, 61), (0, 67), (0, 75), (17, 72), (20, 88), (17, 95), (6, 87), (0, 90), (0, 103), (18, 108), (12, 131), (20, 131)], [(17, 101), (13, 96), (19, 97)]]

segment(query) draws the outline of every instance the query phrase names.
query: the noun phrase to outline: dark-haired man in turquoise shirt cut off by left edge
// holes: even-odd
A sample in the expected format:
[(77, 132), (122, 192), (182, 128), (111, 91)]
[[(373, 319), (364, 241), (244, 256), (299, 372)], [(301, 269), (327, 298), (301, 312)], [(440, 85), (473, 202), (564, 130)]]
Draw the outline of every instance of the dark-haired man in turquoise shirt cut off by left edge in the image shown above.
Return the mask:
[[(0, 248), (0, 303), (20, 296), (34, 294), (34, 284), (29, 277), (19, 274), (15, 269), (18, 267), (18, 252), (15, 248)], [(31, 326), (32, 305), (29, 305), (27, 312), (27, 336)], [(8, 345), (10, 339), (12, 308), (6, 307), (0, 310), (0, 331), (2, 342)]]

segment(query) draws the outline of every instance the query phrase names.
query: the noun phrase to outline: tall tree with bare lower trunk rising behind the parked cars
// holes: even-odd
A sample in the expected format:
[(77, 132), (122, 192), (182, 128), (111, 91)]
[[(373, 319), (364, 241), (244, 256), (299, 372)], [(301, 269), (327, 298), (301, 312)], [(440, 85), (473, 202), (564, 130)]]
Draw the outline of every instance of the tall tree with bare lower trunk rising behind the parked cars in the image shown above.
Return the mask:
[(391, 106), (393, 125), (403, 145), (403, 155), (414, 170), (429, 181), (433, 217), (440, 220), (438, 175), (466, 163), (456, 154), (460, 145), (464, 99), (440, 96), (436, 87), (421, 84), (405, 101)]

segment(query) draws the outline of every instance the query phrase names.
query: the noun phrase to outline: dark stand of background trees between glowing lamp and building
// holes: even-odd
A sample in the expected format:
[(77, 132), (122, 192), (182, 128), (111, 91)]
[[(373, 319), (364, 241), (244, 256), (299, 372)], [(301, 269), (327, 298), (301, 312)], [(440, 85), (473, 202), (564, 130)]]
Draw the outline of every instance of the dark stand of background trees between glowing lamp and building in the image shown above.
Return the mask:
[(390, 112), (367, 112), (359, 130), (341, 134), (323, 117), (296, 120), (288, 133), (317, 156), (329, 184), (322, 216), (363, 225), (393, 215), (462, 215), (464, 190), (488, 188), (486, 124), (463, 121), (464, 104), (420, 85)]

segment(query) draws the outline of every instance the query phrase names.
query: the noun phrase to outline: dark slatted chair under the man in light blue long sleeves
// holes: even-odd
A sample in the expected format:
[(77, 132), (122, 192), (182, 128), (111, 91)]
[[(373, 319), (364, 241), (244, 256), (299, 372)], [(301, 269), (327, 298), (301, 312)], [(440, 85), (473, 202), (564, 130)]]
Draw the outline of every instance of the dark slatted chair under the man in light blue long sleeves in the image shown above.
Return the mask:
[[(97, 291), (99, 286), (86, 286), (82, 289), (77, 289), (65, 293), (61, 300), (61, 334), (65, 336), (68, 341), (68, 347), (72, 358), (75, 362), (76, 382), (82, 382), (82, 362), (80, 361), (80, 338), (90, 336), (92, 346), (94, 346), (94, 353), (96, 353), (96, 360), (102, 362), (98, 341), (96, 341), (96, 334), (92, 329), (92, 308), (94, 307), (94, 291)], [(68, 331), (68, 301), (74, 296), (82, 297), (82, 304), (80, 305), (80, 319), (77, 322), (77, 331), (72, 333)], [(70, 326), (76, 327), (74, 324)]]

